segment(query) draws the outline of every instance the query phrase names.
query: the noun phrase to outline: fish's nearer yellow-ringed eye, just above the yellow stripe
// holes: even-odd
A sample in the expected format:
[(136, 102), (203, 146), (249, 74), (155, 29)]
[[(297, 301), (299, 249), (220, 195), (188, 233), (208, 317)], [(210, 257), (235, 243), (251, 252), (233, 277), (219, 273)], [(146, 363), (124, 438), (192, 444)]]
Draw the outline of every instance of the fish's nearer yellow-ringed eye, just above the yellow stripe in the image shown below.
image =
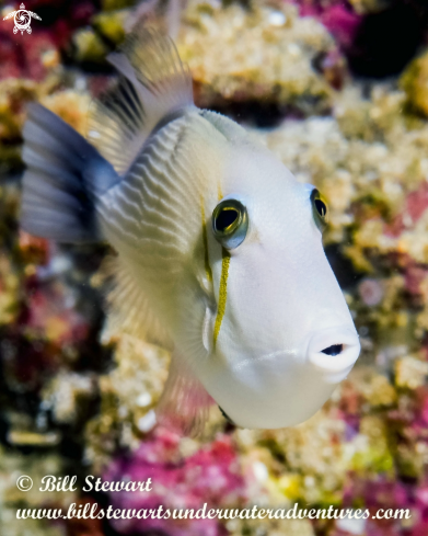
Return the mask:
[(220, 202), (212, 212), (212, 232), (225, 249), (240, 246), (248, 230), (248, 215), (244, 205), (236, 199)]

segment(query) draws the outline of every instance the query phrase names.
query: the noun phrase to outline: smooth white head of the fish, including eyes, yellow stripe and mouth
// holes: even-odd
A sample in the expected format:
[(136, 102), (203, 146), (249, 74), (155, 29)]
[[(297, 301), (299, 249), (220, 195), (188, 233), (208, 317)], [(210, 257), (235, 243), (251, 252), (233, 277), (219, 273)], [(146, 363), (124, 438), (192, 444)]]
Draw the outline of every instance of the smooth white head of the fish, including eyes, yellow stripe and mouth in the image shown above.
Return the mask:
[(352, 368), (359, 339), (325, 256), (326, 205), (271, 153), (233, 147), (209, 227), (217, 310), (203, 383), (236, 425), (309, 419)]

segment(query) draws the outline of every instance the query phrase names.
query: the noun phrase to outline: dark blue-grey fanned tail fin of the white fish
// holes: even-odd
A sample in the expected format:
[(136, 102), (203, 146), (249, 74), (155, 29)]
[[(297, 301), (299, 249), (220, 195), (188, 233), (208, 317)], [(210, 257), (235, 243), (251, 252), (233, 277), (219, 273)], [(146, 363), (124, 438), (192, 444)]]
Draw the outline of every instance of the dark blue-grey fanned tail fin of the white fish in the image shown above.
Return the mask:
[(21, 226), (59, 242), (96, 241), (96, 198), (119, 178), (80, 134), (39, 104), (24, 130)]

